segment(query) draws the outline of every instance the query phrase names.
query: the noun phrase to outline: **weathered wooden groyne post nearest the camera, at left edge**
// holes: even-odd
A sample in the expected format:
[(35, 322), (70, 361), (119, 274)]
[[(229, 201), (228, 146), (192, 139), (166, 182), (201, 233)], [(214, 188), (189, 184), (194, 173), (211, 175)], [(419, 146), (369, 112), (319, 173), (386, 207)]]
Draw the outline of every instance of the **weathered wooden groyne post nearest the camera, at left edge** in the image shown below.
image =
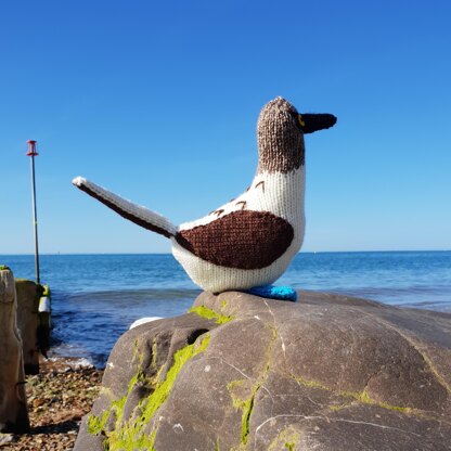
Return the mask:
[(0, 433), (29, 430), (13, 273), (0, 267)]

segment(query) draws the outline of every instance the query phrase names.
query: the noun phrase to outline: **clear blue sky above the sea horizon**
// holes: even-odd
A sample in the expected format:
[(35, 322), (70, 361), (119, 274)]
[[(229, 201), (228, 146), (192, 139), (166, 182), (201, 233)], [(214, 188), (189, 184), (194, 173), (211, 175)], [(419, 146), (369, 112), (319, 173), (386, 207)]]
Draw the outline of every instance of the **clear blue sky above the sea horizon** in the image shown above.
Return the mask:
[(261, 106), (306, 137), (305, 250), (451, 248), (451, 2), (11, 1), (0, 14), (0, 254), (159, 253), (76, 190), (85, 176), (175, 223), (240, 194)]

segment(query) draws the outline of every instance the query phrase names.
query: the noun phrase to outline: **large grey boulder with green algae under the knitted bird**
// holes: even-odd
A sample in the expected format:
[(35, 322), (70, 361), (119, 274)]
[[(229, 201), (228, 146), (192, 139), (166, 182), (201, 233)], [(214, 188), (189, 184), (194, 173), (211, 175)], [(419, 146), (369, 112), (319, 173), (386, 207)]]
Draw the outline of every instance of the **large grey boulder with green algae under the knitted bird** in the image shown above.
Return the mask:
[(109, 356), (76, 451), (451, 450), (451, 315), (203, 293)]

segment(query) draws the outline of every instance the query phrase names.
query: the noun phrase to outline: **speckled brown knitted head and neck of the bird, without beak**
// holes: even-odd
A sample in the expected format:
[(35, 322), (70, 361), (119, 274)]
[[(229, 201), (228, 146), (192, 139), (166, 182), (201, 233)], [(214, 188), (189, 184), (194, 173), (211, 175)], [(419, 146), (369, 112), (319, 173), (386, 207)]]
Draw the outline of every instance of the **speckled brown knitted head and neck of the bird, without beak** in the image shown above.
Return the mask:
[(258, 119), (257, 139), (257, 173), (286, 173), (304, 165), (304, 134), (298, 113), (285, 99), (276, 98), (263, 106)]

